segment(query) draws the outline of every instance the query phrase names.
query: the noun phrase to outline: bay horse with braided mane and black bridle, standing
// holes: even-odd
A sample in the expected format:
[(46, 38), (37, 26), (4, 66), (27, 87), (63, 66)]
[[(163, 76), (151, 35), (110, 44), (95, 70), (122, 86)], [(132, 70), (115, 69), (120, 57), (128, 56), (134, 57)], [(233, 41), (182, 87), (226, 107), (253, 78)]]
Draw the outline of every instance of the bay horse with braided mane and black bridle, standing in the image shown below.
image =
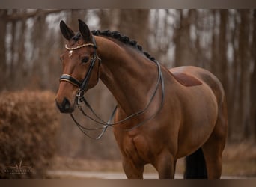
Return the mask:
[(128, 178), (142, 178), (148, 163), (159, 178), (174, 178), (184, 156), (195, 165), (185, 177), (221, 177), (228, 123), (216, 76), (199, 67), (167, 70), (134, 40), (91, 32), (81, 20), (76, 34), (63, 21), (60, 28), (67, 45), (56, 104), (72, 113), (83, 93), (103, 81), (118, 102), (112, 126)]

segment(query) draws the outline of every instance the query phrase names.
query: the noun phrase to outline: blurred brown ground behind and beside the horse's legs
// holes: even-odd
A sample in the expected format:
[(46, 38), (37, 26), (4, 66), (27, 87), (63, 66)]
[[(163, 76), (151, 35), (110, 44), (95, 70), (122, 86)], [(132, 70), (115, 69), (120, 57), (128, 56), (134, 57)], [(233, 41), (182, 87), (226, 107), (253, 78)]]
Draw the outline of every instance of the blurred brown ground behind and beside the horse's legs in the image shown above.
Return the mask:
[[(124, 172), (120, 160), (85, 160), (56, 156), (50, 171)], [(144, 172), (154, 174), (156, 170), (146, 165)], [(184, 160), (177, 162), (177, 174), (183, 174)], [(256, 177), (256, 145), (253, 143), (228, 144), (223, 153), (222, 175), (226, 177)], [(62, 178), (69, 176), (55, 176)], [(73, 177), (71, 177), (73, 178)]]

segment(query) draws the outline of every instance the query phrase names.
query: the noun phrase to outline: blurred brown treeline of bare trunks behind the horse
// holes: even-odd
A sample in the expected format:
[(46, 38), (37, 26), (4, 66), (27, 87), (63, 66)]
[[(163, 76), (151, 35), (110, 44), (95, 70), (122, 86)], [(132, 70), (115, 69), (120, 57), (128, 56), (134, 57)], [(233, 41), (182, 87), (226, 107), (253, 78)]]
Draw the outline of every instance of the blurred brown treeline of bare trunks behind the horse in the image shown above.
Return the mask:
[[(168, 68), (210, 70), (225, 88), (228, 141), (256, 140), (256, 10), (0, 10), (0, 91), (57, 91), (65, 43), (61, 19), (74, 31), (77, 19), (91, 30), (120, 31)], [(88, 100), (106, 120), (115, 106), (101, 82), (88, 92)], [(119, 158), (111, 130), (103, 140), (92, 141), (68, 115), (61, 118), (61, 154)]]

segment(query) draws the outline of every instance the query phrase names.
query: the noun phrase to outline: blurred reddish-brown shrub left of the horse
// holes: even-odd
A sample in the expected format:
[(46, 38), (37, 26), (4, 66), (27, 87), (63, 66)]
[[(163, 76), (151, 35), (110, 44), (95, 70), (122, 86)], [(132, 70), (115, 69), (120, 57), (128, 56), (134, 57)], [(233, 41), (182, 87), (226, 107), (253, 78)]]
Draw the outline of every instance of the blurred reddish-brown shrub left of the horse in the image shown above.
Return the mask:
[(56, 148), (58, 111), (50, 91), (0, 93), (0, 177), (42, 178)]

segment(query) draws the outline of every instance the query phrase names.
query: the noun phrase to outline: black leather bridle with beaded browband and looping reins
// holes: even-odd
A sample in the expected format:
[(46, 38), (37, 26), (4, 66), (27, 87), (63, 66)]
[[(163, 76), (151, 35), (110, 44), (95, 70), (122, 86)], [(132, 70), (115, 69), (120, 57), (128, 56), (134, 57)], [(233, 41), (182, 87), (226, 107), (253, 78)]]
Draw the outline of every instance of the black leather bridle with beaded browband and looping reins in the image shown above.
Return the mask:
[[(88, 129), (86, 128), (85, 126), (82, 126), (77, 120), (76, 118), (73, 116), (73, 114), (71, 113), (70, 116), (72, 117), (73, 121), (76, 123), (76, 125), (79, 127), (79, 129), (86, 135), (88, 136), (89, 138), (92, 138), (92, 139), (95, 139), (95, 140), (98, 140), (100, 139), (104, 132), (106, 132), (106, 129), (109, 127), (109, 126), (115, 126), (115, 125), (118, 125), (120, 123), (124, 123), (126, 122), (127, 120), (131, 119), (132, 117), (135, 117), (135, 116), (138, 116), (139, 114), (143, 114), (147, 108), (150, 106), (150, 103), (153, 101), (153, 98), (154, 96), (156, 96), (156, 92), (158, 90), (158, 87), (159, 85), (161, 84), (162, 86), (162, 96), (161, 96), (161, 103), (159, 105), (159, 108), (158, 110), (152, 114), (150, 117), (148, 117), (147, 119), (141, 121), (140, 123), (136, 124), (135, 126), (129, 128), (129, 129), (124, 129), (124, 131), (130, 131), (132, 129), (135, 129), (135, 128), (138, 128), (138, 126), (141, 126), (142, 124), (146, 123), (148, 120), (152, 119), (153, 117), (156, 116), (156, 114), (159, 113), (159, 111), (162, 109), (162, 105), (163, 105), (163, 102), (164, 102), (164, 98), (165, 98), (165, 83), (164, 83), (164, 79), (163, 79), (163, 76), (162, 76), (162, 70), (161, 70), (161, 66), (159, 64), (158, 61), (154, 60), (153, 62), (156, 64), (157, 66), (157, 70), (158, 70), (158, 77), (157, 77), (157, 82), (156, 82), (156, 87), (153, 91), (153, 94), (150, 96), (150, 100), (149, 102), (147, 102), (147, 105), (141, 110), (141, 111), (137, 111), (133, 114), (130, 114), (128, 117), (125, 117), (123, 120), (119, 120), (118, 122), (115, 122), (115, 123), (111, 123), (114, 116), (115, 116), (115, 112), (117, 111), (118, 109), (118, 105), (115, 106), (114, 110), (112, 111), (112, 114), (111, 116), (109, 117), (109, 120), (106, 122), (104, 120), (102, 120), (93, 110), (93, 108), (91, 108), (91, 105), (87, 102), (87, 100), (85, 99), (84, 97), (84, 92), (86, 91), (87, 87), (88, 87), (88, 82), (89, 82), (89, 79), (91, 77), (91, 72), (94, 68), (94, 64), (95, 64), (95, 61), (98, 60), (99, 61), (99, 64), (101, 63), (101, 59), (98, 57), (97, 55), (97, 45), (96, 45), (96, 42), (95, 42), (95, 39), (94, 37), (92, 36), (92, 43), (85, 43), (85, 44), (82, 44), (81, 46), (76, 46), (76, 47), (73, 47), (73, 48), (69, 48), (67, 47), (67, 45), (65, 46), (65, 48), (69, 51), (71, 50), (76, 50), (76, 49), (80, 49), (82, 47), (86, 47), (86, 46), (93, 46), (94, 47), (94, 56), (93, 58), (91, 58), (91, 63), (89, 65), (89, 68), (88, 68), (88, 71), (87, 73), (85, 74), (85, 78), (82, 80), (82, 82), (79, 82), (77, 79), (75, 79), (73, 76), (70, 76), (68, 74), (63, 74), (60, 78), (60, 82), (61, 81), (64, 81), (64, 82), (70, 82), (70, 84), (73, 84), (73, 85), (76, 85), (78, 88), (79, 88), (79, 91), (77, 92), (76, 94), (76, 97), (77, 97), (77, 106), (79, 108), (79, 110), (82, 112), (82, 114), (85, 116), (85, 117), (88, 117), (88, 119), (94, 121), (95, 123), (97, 124), (100, 124), (102, 125), (102, 127), (99, 127), (99, 128), (95, 128), (95, 129)], [(99, 79), (99, 75), (98, 75), (98, 79)], [(85, 103), (85, 106), (87, 108), (89, 108), (89, 110), (91, 111), (92, 114), (94, 114), (94, 117), (97, 118), (97, 120), (95, 120), (94, 117), (91, 117), (89, 116), (88, 114), (85, 113), (85, 111), (83, 110), (82, 106), (80, 105), (80, 102), (84, 102)], [(102, 129), (102, 132), (100, 133), (100, 135), (98, 135), (96, 138), (94, 137), (91, 137), (91, 135), (88, 135), (87, 132), (85, 131), (95, 131), (95, 130), (98, 130), (98, 129)]]

